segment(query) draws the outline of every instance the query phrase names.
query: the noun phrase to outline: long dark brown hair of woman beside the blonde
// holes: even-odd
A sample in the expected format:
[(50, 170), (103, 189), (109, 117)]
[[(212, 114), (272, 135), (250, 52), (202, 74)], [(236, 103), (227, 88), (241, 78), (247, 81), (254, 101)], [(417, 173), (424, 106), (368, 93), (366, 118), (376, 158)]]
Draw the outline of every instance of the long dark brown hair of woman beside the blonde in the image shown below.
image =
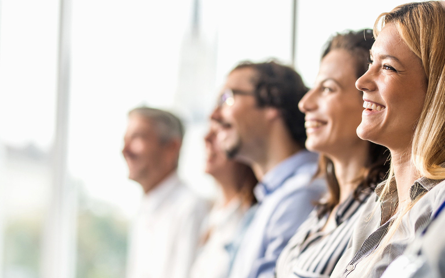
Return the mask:
[[(326, 43), (321, 59), (334, 49), (348, 51), (356, 61), (356, 78), (358, 79), (368, 70), (369, 50), (374, 41), (372, 29), (337, 33)], [(368, 161), (363, 176), (360, 177), (360, 185), (353, 193), (355, 198), (360, 192), (375, 189), (377, 184), (384, 181), (389, 170), (389, 155), (386, 147), (369, 142)], [(320, 155), (315, 177), (325, 177), (328, 184), (328, 200), (318, 204), (318, 217), (321, 218), (324, 214), (331, 212), (340, 201), (340, 186), (335, 175), (334, 164), (325, 155)]]

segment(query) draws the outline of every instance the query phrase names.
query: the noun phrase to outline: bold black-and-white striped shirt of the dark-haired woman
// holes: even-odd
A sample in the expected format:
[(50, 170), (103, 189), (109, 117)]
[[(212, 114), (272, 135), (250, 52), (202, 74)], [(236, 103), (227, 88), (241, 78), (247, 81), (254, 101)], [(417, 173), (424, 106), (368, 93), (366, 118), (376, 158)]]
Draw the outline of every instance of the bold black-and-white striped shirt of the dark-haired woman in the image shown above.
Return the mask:
[(336, 227), (331, 230), (322, 230), (330, 212), (319, 218), (319, 208), (314, 209), (280, 254), (276, 277), (328, 278), (346, 250), (354, 224), (372, 192), (369, 188), (356, 198), (351, 194), (340, 204)]

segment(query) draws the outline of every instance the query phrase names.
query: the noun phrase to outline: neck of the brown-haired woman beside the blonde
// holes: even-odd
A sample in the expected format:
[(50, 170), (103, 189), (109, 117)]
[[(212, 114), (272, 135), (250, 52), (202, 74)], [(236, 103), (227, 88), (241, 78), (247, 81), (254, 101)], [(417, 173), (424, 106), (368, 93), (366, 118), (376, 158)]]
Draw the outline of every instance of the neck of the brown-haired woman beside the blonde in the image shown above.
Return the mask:
[(348, 152), (336, 157), (330, 157), (334, 164), (335, 174), (340, 187), (339, 203), (346, 201), (349, 195), (360, 185), (366, 161), (368, 160), (368, 141), (361, 140), (360, 144), (349, 147)]

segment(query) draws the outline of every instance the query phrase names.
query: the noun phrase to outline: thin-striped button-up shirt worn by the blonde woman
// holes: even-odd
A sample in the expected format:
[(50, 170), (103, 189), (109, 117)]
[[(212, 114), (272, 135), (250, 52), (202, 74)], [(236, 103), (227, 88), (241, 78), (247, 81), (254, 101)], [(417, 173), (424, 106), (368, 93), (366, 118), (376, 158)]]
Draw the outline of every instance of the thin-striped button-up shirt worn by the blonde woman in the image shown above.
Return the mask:
[[(401, 218), (401, 223), (392, 235), (387, 232), (398, 216), (398, 213), (394, 214), (398, 205), (396, 180), (392, 177), (388, 193), (382, 196), (380, 203), (378, 197), (386, 181), (377, 185), (375, 194), (364, 205), (348, 249), (331, 277), (379, 278), (388, 265), (404, 254), (416, 236), (431, 222), (434, 212), (445, 198), (445, 182), (441, 181), (443, 180), (426, 177), (414, 181), (410, 188), (410, 199), (418, 201)], [(377, 248), (380, 242), (384, 242), (384, 248)]]

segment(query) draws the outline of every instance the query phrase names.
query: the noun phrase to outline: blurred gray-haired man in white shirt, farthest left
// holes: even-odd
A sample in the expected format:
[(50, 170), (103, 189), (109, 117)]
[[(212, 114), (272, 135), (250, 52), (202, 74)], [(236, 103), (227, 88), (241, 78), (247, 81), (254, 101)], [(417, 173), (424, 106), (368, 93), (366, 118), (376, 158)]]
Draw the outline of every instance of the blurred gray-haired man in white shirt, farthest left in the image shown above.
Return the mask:
[(127, 278), (186, 278), (208, 210), (178, 178), (184, 128), (173, 114), (148, 107), (129, 113), (122, 153), (129, 178), (144, 189), (131, 235)]

